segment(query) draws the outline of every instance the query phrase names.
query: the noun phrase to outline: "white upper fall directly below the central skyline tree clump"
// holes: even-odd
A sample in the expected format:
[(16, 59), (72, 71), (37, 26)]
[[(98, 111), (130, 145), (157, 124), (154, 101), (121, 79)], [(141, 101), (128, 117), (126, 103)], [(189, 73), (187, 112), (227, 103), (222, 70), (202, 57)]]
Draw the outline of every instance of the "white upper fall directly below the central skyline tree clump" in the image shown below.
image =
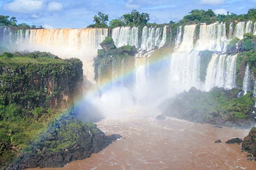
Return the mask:
[(117, 27), (112, 30), (112, 38), (117, 48), (124, 45), (139, 47), (138, 27)]

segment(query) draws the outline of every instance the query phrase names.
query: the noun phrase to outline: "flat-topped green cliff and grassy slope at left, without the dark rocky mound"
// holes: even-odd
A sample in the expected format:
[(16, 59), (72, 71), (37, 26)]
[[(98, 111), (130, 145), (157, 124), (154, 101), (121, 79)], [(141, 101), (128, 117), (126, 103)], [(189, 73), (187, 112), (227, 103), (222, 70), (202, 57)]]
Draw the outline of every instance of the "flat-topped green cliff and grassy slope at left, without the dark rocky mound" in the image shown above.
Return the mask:
[(46, 52), (5, 52), (0, 55), (0, 82), (2, 167), (17, 154), (31, 151), (31, 142), (59, 116), (55, 109), (72, 104), (82, 82), (82, 62)]

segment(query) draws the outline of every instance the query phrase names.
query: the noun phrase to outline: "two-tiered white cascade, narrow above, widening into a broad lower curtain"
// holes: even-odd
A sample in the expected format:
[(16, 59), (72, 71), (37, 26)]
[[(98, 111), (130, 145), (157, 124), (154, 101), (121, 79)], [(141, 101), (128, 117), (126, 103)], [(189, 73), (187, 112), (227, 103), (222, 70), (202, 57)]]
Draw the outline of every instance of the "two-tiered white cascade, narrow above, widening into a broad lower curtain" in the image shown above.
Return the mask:
[(199, 87), (199, 51), (192, 50), (195, 27), (184, 26), (183, 41), (170, 57), (169, 93), (182, 92), (192, 86)]

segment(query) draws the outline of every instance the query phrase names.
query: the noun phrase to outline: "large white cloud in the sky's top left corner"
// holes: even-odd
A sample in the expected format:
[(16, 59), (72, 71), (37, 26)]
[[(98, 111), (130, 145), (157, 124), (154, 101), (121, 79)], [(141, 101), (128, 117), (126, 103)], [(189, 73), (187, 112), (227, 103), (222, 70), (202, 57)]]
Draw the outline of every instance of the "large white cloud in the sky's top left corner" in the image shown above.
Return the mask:
[(5, 3), (3, 9), (22, 14), (31, 14), (39, 11), (43, 7), (41, 0), (14, 0), (10, 3)]

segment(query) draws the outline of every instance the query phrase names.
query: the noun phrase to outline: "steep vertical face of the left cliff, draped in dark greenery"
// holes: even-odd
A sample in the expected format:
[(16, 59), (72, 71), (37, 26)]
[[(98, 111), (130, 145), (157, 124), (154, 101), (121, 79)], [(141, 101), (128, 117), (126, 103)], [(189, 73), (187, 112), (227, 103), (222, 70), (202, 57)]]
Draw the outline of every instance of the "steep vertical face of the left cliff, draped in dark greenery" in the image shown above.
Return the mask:
[[(3, 60), (2, 60), (3, 61)], [(79, 59), (52, 59), (49, 62), (0, 62), (0, 93), (5, 105), (23, 108), (66, 108), (79, 94), (83, 81)]]

